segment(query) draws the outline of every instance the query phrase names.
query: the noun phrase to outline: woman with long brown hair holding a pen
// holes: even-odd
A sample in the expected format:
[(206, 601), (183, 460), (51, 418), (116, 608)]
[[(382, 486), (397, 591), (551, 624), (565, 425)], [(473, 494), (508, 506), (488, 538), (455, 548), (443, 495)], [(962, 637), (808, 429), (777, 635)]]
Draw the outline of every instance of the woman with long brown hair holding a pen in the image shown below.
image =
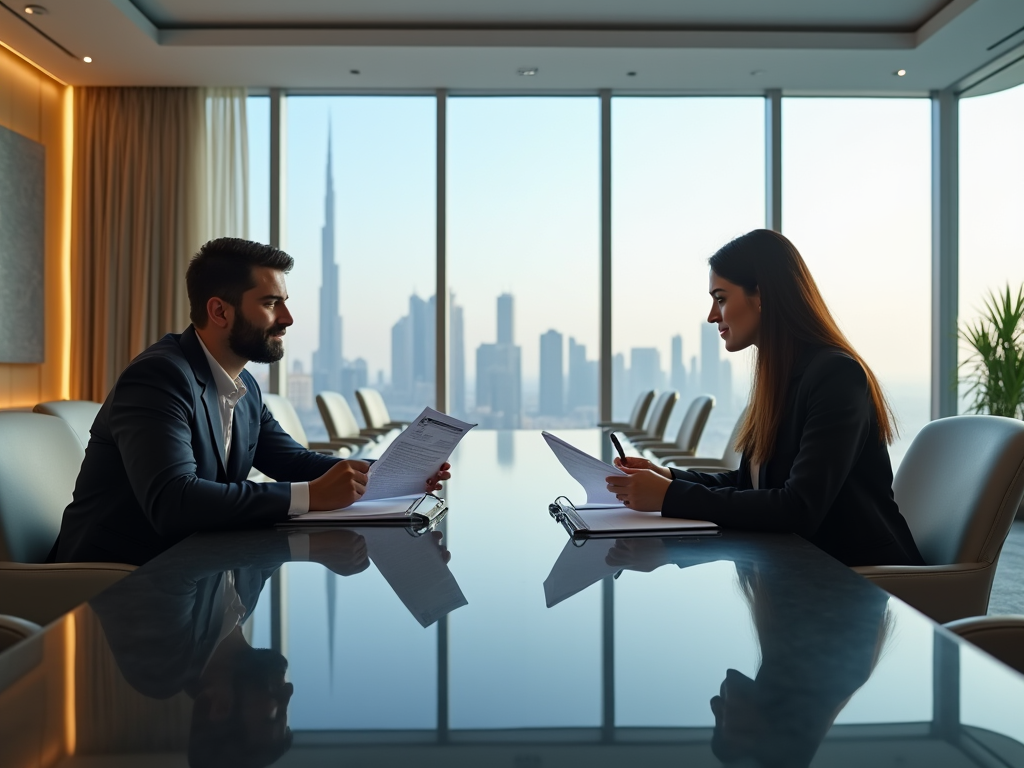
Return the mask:
[(616, 466), (626, 506), (723, 527), (792, 531), (847, 565), (923, 565), (892, 492), (893, 415), (794, 245), (755, 229), (711, 264), (709, 323), (730, 352), (756, 346), (739, 469)]

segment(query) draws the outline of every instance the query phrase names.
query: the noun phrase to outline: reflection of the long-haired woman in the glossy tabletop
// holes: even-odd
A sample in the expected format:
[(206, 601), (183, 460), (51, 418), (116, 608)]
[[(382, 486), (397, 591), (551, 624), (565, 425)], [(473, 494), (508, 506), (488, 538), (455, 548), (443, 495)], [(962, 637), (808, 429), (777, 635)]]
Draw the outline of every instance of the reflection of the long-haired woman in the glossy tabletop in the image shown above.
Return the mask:
[(751, 563), (737, 562), (736, 570), (761, 666), (753, 680), (726, 672), (711, 699), (712, 750), (727, 764), (804, 768), (878, 664), (891, 626), (888, 598), (795, 585), (788, 573), (762, 573)]

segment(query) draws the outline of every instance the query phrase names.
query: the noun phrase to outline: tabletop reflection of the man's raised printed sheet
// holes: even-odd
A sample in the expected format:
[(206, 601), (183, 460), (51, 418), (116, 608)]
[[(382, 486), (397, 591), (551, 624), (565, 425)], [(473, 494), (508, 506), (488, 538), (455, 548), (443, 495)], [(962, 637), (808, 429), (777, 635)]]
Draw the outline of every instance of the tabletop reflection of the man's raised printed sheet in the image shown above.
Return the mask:
[(468, 604), (434, 537), (400, 528), (359, 528), (359, 534), (374, 565), (424, 627)]

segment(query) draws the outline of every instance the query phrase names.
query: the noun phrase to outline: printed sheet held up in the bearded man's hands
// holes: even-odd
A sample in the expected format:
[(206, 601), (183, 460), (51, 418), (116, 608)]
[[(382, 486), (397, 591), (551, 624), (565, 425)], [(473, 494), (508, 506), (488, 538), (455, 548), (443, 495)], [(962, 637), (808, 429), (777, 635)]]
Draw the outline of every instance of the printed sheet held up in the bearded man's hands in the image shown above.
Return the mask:
[(370, 481), (361, 501), (422, 494), (427, 480), (475, 426), (432, 408), (423, 409), (416, 421), (371, 465)]

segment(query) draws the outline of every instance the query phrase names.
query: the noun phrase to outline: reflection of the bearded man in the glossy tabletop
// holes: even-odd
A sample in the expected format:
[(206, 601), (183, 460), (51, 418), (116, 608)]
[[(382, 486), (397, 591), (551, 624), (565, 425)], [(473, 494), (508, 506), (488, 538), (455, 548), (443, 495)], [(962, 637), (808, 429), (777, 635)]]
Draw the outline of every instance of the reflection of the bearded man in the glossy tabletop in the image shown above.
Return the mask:
[(294, 689), (285, 680), (288, 662), (275, 650), (253, 648), (242, 633), (278, 565), (306, 548), (308, 559), (340, 575), (370, 564), (366, 541), (350, 530), (298, 535), (290, 546), (279, 538), (273, 544), (250, 552), (256, 564), (244, 568), (213, 570), (213, 562), (188, 572), (155, 568), (125, 579), (90, 603), (133, 688), (153, 698), (183, 690), (195, 699), (193, 768), (265, 766), (291, 745), (288, 703)]

